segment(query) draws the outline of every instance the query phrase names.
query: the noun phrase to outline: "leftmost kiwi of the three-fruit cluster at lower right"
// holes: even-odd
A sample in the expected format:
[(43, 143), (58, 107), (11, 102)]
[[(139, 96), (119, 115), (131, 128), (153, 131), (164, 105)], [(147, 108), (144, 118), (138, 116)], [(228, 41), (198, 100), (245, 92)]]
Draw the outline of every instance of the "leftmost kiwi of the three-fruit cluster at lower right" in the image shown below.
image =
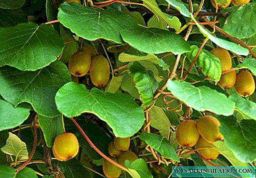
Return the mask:
[(196, 127), (197, 123), (193, 120), (181, 122), (176, 128), (176, 140), (182, 147), (192, 147), (199, 139)]

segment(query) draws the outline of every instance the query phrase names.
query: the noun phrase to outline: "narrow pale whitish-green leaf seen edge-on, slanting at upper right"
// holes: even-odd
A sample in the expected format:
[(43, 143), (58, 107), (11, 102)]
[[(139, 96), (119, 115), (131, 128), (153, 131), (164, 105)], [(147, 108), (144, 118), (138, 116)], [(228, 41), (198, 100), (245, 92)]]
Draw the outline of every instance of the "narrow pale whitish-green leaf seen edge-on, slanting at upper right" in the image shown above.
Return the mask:
[(242, 46), (239, 46), (236, 43), (227, 41), (227, 40), (222, 39), (222, 38), (215, 37), (206, 28), (201, 26), (194, 17), (191, 17), (191, 18), (194, 20), (194, 22), (196, 23), (200, 32), (203, 34), (203, 36), (209, 38), (212, 42), (214, 42), (220, 48), (224, 48), (228, 51), (232, 51), (235, 54), (245, 55), (245, 56), (248, 55), (249, 51), (247, 49), (243, 48)]

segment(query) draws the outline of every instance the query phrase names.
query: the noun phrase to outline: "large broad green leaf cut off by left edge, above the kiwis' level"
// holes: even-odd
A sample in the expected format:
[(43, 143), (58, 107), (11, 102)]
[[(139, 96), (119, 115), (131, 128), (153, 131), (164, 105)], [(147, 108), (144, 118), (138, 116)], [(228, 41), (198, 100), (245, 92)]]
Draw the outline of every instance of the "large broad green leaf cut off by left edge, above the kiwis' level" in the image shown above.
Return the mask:
[(54, 62), (64, 43), (51, 25), (32, 22), (0, 28), (0, 66), (35, 71)]

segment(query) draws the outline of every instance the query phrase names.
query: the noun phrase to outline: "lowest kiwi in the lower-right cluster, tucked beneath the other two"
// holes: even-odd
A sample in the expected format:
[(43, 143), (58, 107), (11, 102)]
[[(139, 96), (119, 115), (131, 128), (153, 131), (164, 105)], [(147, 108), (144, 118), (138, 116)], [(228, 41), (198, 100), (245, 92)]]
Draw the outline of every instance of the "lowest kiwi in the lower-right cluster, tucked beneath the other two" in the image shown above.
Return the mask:
[(208, 141), (200, 137), (197, 142), (197, 148), (203, 148), (203, 147), (211, 147), (211, 148), (204, 148), (202, 150), (198, 150), (198, 153), (201, 154), (205, 159), (213, 160), (218, 157), (219, 152), (216, 150), (216, 146), (213, 143), (209, 143)]

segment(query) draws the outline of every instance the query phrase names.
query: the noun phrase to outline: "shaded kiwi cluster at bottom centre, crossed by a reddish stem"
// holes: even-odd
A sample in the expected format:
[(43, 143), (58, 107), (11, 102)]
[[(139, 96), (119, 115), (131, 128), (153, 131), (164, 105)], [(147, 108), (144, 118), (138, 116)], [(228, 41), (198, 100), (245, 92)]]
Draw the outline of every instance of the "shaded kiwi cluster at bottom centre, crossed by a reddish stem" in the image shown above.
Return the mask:
[[(129, 150), (130, 147), (130, 137), (118, 138), (115, 137), (114, 141), (110, 142), (108, 145), (108, 153), (110, 158), (125, 166), (125, 160), (129, 160), (130, 163), (138, 159), (138, 156)], [(121, 175), (121, 168), (108, 162), (106, 159), (102, 164), (103, 172), (107, 178), (118, 178)]]

